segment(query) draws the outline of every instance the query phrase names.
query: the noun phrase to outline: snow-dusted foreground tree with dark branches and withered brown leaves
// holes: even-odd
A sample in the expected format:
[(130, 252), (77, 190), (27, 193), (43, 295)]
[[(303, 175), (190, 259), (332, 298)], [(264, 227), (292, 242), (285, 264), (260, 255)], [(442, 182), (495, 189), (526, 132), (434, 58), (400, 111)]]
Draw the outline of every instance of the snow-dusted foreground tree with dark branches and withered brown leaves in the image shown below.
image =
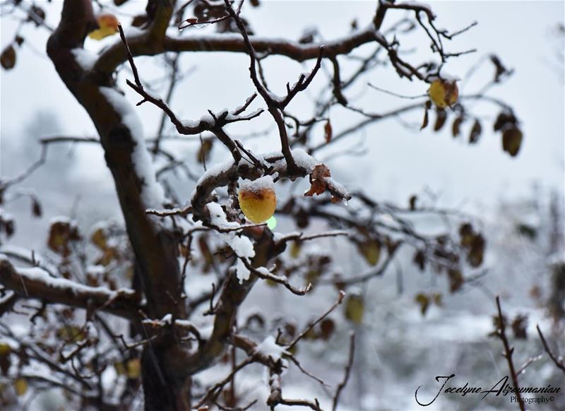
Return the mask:
[[(114, 0), (116, 6), (125, 3)], [(475, 114), (477, 102), (496, 107), (498, 115), (489, 127), (499, 133), (503, 150), (517, 155), (523, 141), (520, 121), (511, 105), (487, 94), (512, 70), (495, 55), (480, 60), (478, 64), (489, 62), (494, 67), (492, 81), (477, 93), (463, 95), (458, 95), (456, 81), (444, 73), (448, 61), (473, 52), (448, 50), (447, 46), (475, 23), (448, 31), (439, 28), (428, 6), (380, 1), (374, 16), (364, 22), (365, 28), (354, 22), (345, 37), (322, 41), (310, 30), (297, 41), (279, 40), (253, 35), (252, 22), (244, 18), (250, 6), (258, 6), (258, 2), (149, 0), (131, 22), (120, 19), (122, 24), (131, 25), (123, 30), (106, 10), (108, 4), (97, 1), (66, 0), (57, 28), (45, 23), (46, 10), (37, 5), (4, 2), (6, 14), (23, 11), (22, 24), (52, 30), (47, 54), (61, 81), (88, 112), (99, 136), (44, 138), (38, 162), (17, 177), (2, 179), (2, 200), (21, 195), (17, 184), (42, 165), (51, 145), (100, 144), (124, 217), (124, 227), (97, 225), (86, 237), (73, 220), (54, 220), (47, 244), (52, 253), (50, 261), (33, 251), (3, 249), (1, 312), (17, 311), (18, 304), (33, 311), (25, 338), (14, 331), (13, 324), (1, 323), (7, 341), (0, 346), (2, 371), (13, 381), (16, 394), (25, 393), (28, 386), (35, 390), (58, 386), (64, 388), (70, 404), (81, 407), (121, 409), (137, 407), (143, 401), (150, 410), (213, 405), (245, 408), (255, 403), (241, 403), (243, 394), (237, 391), (234, 378), (250, 364), (261, 364), (268, 371), (268, 407), (293, 405), (319, 410), (317, 398), (284, 395), (281, 375), (287, 367), (296, 366), (326, 385), (302, 367), (296, 348), (306, 339), (328, 340), (335, 328), (328, 314), (339, 304), (345, 305), (345, 316), (352, 323), (361, 323), (364, 298), (357, 292), (359, 285), (382, 275), (407, 249), (415, 266), (421, 270), (433, 266), (445, 275), (450, 292), (483, 275), (480, 267), (485, 239), (474, 218), (458, 210), (436, 208), (433, 202), (426, 203), (417, 196), (404, 207), (376, 201), (362, 191), (349, 192), (331, 177), (323, 162), (316, 160), (319, 150), (359, 129), (412, 111), (422, 112), (421, 129), (433, 126), (440, 131), (449, 120), (453, 137), (465, 130), (468, 142), (477, 143), (485, 127), (484, 119)], [(381, 29), (383, 22), (395, 18), (399, 11), (410, 14)], [(218, 33), (186, 36), (181, 32), (195, 26), (211, 26)], [(99, 54), (83, 49), (88, 35), (103, 38), (117, 31), (120, 39)], [(411, 61), (405, 56), (403, 36), (412, 32), (429, 39), (427, 59)], [(23, 42), (16, 32), (2, 52), (4, 68), (15, 66)], [(361, 47), (368, 52), (361, 57), (354, 55)], [(180, 119), (169, 102), (182, 76), (178, 56), (188, 52), (246, 54), (255, 92), (242, 96), (240, 107), (218, 112), (202, 107), (200, 119)], [(165, 56), (169, 81), (164, 97), (143, 81), (144, 66), (136, 64), (138, 56), (159, 55)], [(308, 66), (307, 73), (288, 79), (280, 95), (273, 91), (280, 90), (280, 85), (268, 83), (268, 73), (263, 69), (272, 56), (304, 61)], [(347, 75), (342, 69), (344, 61), (348, 67), (355, 66)], [(422, 83), (422, 91), (429, 88), (429, 97), (398, 95), (410, 103), (382, 113), (357, 106), (350, 93), (352, 86), (367, 83), (367, 74), (380, 64), (399, 78)], [(121, 69), (131, 70), (126, 84), (139, 95), (138, 105), (149, 103), (162, 112), (157, 136), (145, 140), (136, 108), (119, 88), (116, 73)], [(323, 73), (328, 76), (321, 78)], [(228, 68), (225, 75), (230, 75)], [(323, 85), (314, 98), (311, 114), (293, 113), (292, 103), (316, 81)], [(395, 94), (376, 85), (368, 87), (371, 93)], [(252, 111), (251, 106), (256, 109)], [(339, 129), (331, 121), (333, 107), (355, 112), (362, 119)], [(433, 125), (429, 124), (432, 114)], [(263, 138), (275, 136), (280, 145), (275, 153), (253, 153), (245, 147), (243, 138), (233, 137), (230, 129), (244, 124), (247, 134), (254, 136), (256, 133), (249, 130), (264, 117), (270, 119), (274, 133)], [(177, 131), (174, 136), (165, 133), (169, 123)], [(319, 142), (316, 133), (322, 130), (324, 138)], [(175, 156), (174, 148), (168, 147), (179, 138), (189, 141), (184, 136), (198, 136), (201, 145), (197, 161), (206, 168), (201, 175), (194, 175)], [(210, 151), (218, 143), (225, 146), (232, 160), (210, 166)], [(355, 148), (351, 154), (355, 154)], [(196, 180), (190, 198), (179, 198), (167, 184), (164, 176), (172, 172), (184, 172), (187, 179)], [(285, 181), (304, 178), (310, 183), (307, 198), (283, 188)], [(249, 222), (250, 213), (246, 218), (242, 213), (245, 207), (239, 204), (249, 181), (256, 181), (256, 186), (266, 191), (273, 184), (277, 187), (277, 215), (291, 218), (299, 229), (315, 225), (320, 230), (281, 235), (262, 223), (263, 218), (258, 224)], [(40, 215), (40, 203), (34, 196), (32, 205), (33, 213)], [(412, 218), (421, 214), (441, 217), (441, 233), (419, 230)], [(5, 213), (0, 218), (2, 231), (9, 237), (14, 222)], [(323, 242), (324, 237), (343, 237), (340, 244), (353, 246), (369, 268), (361, 273), (340, 273), (332, 256), (303, 250), (305, 243)], [(20, 266), (22, 263), (27, 267)], [(211, 290), (194, 292), (191, 287), (196, 287), (195, 278), (210, 270), (215, 273)], [(297, 296), (331, 285), (335, 297), (333, 302), (323, 299), (327, 308), (320, 306), (317, 316), (300, 326), (283, 317), (273, 333), (261, 341), (254, 338), (254, 326), (264, 323), (263, 316), (242, 318), (238, 311), (258, 281), (283, 287)], [(40, 306), (29, 306), (28, 299), (38, 300)], [(441, 294), (422, 292), (416, 302), (425, 314), (430, 306), (441, 304)], [(334, 408), (350, 378), (354, 349), (352, 335), (349, 350), (345, 350), (343, 379), (328, 392)], [(195, 378), (222, 361), (230, 362), (229, 374), (204, 384)], [(102, 379), (109, 367), (117, 371), (112, 388)], [(124, 381), (124, 375), (125, 383), (118, 383)], [(7, 405), (17, 401), (7, 395), (2, 399)]]

